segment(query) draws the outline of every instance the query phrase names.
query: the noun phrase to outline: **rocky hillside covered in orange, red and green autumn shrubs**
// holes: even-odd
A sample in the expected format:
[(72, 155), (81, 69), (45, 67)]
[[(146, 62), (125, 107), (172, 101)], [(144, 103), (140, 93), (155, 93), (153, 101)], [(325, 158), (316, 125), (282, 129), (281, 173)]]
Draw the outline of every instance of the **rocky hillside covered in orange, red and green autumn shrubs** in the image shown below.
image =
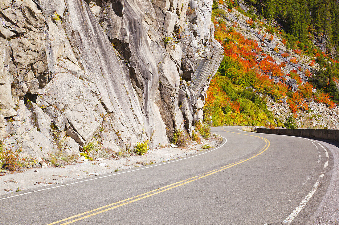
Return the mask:
[(204, 113), (215, 126), (283, 126), (339, 129), (338, 61), (311, 42), (291, 44), (274, 18), (259, 18), (242, 1), (214, 2), (215, 39), (224, 59), (207, 90)]

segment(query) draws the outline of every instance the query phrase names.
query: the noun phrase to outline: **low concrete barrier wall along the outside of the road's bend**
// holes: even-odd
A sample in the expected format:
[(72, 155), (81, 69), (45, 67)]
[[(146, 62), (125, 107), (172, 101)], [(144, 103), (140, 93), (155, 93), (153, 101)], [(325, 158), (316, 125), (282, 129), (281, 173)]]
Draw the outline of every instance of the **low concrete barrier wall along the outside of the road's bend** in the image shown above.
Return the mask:
[(270, 133), (270, 134), (281, 134), (291, 135), (306, 138), (319, 138), (327, 139), (332, 141), (339, 141), (339, 130), (329, 129), (268, 129), (268, 128), (257, 128), (258, 133)]

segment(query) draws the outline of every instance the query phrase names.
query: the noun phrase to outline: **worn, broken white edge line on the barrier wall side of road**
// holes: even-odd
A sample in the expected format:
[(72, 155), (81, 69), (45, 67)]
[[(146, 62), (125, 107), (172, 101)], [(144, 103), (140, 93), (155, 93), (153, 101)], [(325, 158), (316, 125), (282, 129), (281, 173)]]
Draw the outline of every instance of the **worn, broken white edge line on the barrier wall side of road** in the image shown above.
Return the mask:
[[(239, 129), (240, 130), (240, 129)], [(243, 131), (243, 130), (242, 130)], [(244, 131), (246, 132), (246, 131)], [(260, 133), (260, 132), (259, 132)], [(324, 167), (323, 167), (323, 171), (327, 168), (328, 166), (328, 152), (325, 149), (325, 147), (323, 145), (321, 145), (319, 142), (316, 142), (314, 140), (308, 139), (308, 138), (303, 138), (303, 137), (299, 137), (299, 136), (292, 136), (292, 135), (282, 135), (282, 134), (273, 134), (273, 133), (263, 133), (263, 134), (272, 134), (272, 135), (279, 135), (279, 136), (291, 136), (291, 137), (296, 137), (296, 138), (302, 138), (302, 139), (306, 139), (308, 141), (311, 141), (312, 143), (315, 142), (317, 143), (320, 147), (322, 147), (322, 149), (325, 152), (325, 157), (326, 157), (326, 161), (324, 163)], [(310, 199), (312, 198), (312, 196), (314, 195), (314, 193), (318, 190), (320, 184), (322, 183), (322, 178), (324, 177), (325, 172), (321, 172), (319, 175), (319, 178), (317, 180), (317, 182), (313, 185), (312, 189), (307, 193), (307, 195), (305, 196), (305, 198), (299, 203), (299, 205), (297, 207), (295, 207), (295, 209), (292, 211), (292, 213), (290, 215), (288, 215), (288, 217), (286, 217), (286, 219), (282, 222), (282, 224), (290, 224), (292, 223), (292, 221), (297, 217), (297, 215), (300, 213), (300, 211), (303, 209), (303, 207), (308, 203), (308, 201), (310, 201)]]

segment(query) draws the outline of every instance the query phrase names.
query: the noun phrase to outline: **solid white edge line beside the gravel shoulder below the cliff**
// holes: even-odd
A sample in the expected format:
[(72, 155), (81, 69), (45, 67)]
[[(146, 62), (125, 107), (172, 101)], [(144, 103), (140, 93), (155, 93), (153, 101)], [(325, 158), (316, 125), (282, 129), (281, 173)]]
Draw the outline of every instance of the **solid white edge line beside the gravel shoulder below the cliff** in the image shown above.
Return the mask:
[(119, 174), (123, 174), (123, 173), (134, 172), (134, 171), (137, 171), (137, 170), (148, 169), (148, 168), (151, 168), (151, 167), (162, 166), (162, 165), (165, 165), (165, 164), (168, 164), (168, 163), (174, 163), (174, 162), (177, 162), (177, 161), (180, 161), (180, 160), (196, 157), (196, 156), (199, 156), (199, 155), (206, 154), (208, 152), (212, 152), (212, 151), (217, 150), (217, 149), (221, 148), (222, 146), (224, 146), (226, 144), (226, 142), (227, 142), (227, 139), (225, 137), (223, 137), (223, 136), (221, 136), (221, 137), (223, 139), (225, 139), (225, 142), (221, 146), (213, 148), (213, 149), (211, 149), (209, 151), (202, 152), (200, 154), (192, 155), (192, 156), (181, 158), (181, 159), (177, 159), (177, 160), (171, 160), (171, 161), (168, 161), (166, 163), (156, 164), (156, 165), (153, 165), (153, 166), (142, 167), (142, 168), (135, 169), (135, 170), (129, 170), (129, 171), (124, 171), (124, 172), (120, 172), (120, 173), (109, 174), (109, 175), (105, 175), (105, 176), (101, 176), (101, 177), (96, 177), (96, 178), (92, 178), (92, 179), (88, 179), (88, 180), (81, 180), (81, 181), (77, 181), (77, 182), (73, 182), (73, 183), (67, 183), (67, 184), (62, 184), (62, 185), (54, 186), (54, 187), (51, 187), (51, 188), (44, 188), (44, 189), (40, 189), (40, 190), (36, 190), (36, 191), (26, 192), (26, 193), (22, 193), (22, 194), (19, 194), (19, 195), (13, 195), (13, 196), (5, 197), (5, 198), (0, 198), (0, 200), (7, 199), (7, 198), (14, 198), (14, 197), (18, 197), (18, 196), (21, 196), (21, 195), (27, 195), (27, 194), (35, 193), (35, 192), (41, 192), (41, 191), (45, 191), (45, 190), (49, 190), (49, 189), (60, 188), (62, 186), (68, 186), (68, 185), (72, 185), (72, 184), (76, 184), (76, 183), (82, 183), (82, 182), (86, 182), (86, 181), (101, 179), (101, 178), (104, 178), (104, 177), (115, 176), (115, 175), (119, 175)]

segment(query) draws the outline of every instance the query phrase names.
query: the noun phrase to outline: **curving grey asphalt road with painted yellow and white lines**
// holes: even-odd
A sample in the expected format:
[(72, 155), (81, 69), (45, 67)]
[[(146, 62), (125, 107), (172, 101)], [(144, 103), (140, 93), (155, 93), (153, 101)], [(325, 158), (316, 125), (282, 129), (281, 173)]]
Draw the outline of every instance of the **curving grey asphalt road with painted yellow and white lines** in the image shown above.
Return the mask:
[(227, 142), (195, 156), (2, 195), (0, 224), (306, 224), (330, 151), (238, 129), (212, 128)]

